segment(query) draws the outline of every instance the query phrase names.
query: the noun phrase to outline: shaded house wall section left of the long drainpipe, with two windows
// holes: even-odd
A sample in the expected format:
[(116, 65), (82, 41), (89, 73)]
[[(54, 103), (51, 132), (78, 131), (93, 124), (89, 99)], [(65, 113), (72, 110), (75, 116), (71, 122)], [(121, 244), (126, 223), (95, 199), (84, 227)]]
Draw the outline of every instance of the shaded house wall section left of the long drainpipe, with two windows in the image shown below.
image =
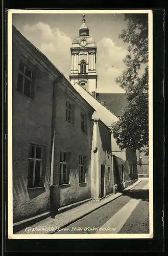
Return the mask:
[(14, 222), (45, 212), (49, 203), (54, 77), (39, 57), (39, 52), (13, 27)]

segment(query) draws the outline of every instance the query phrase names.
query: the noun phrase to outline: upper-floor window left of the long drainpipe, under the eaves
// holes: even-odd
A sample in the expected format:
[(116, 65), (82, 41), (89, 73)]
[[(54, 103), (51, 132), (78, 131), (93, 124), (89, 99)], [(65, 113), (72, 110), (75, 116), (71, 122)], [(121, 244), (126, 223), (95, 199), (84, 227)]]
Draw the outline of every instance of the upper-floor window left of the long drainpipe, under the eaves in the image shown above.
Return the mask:
[(19, 62), (19, 70), (17, 76), (17, 91), (26, 96), (34, 97), (34, 78), (33, 72), (28, 68), (22, 60)]

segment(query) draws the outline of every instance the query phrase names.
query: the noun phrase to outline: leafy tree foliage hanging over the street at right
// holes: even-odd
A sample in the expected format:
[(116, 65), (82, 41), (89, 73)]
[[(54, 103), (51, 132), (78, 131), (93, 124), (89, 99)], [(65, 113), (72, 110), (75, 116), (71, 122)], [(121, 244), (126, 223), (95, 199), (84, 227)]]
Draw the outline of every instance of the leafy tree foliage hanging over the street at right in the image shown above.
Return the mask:
[(127, 105), (112, 130), (122, 150), (131, 147), (141, 151), (146, 147), (148, 155), (148, 15), (125, 14), (125, 20), (127, 28), (119, 38), (128, 44), (128, 55), (123, 60), (126, 69), (116, 82), (126, 91)]

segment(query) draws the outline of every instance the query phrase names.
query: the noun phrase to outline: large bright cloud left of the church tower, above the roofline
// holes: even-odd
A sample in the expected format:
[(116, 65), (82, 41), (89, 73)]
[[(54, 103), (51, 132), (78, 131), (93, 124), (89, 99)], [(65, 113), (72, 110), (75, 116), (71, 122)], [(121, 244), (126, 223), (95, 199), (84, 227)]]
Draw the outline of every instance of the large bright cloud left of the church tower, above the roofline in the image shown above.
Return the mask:
[(70, 37), (59, 28), (51, 28), (42, 22), (25, 25), (20, 32), (68, 78), (71, 65)]

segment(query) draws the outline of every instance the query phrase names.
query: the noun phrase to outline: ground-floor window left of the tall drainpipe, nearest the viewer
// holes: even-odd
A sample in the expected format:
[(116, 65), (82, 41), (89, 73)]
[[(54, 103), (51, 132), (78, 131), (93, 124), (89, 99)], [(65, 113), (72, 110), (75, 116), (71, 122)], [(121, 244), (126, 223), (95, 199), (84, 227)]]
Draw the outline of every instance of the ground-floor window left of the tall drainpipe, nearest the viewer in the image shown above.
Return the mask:
[(30, 144), (28, 188), (44, 186), (44, 146)]

